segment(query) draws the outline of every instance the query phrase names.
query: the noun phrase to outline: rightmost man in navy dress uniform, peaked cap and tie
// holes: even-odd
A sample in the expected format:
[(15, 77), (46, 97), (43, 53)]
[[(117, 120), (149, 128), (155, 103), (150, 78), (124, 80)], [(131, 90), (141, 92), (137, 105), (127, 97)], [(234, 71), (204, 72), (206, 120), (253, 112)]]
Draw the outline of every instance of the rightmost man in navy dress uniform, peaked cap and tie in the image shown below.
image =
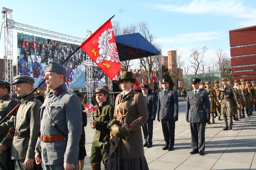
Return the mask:
[(193, 90), (187, 92), (186, 121), (189, 122), (191, 131), (191, 148), (193, 150), (190, 154), (199, 153), (199, 155), (203, 155), (205, 123), (210, 121), (211, 105), (208, 92), (199, 88), (200, 81), (198, 78), (191, 79)]

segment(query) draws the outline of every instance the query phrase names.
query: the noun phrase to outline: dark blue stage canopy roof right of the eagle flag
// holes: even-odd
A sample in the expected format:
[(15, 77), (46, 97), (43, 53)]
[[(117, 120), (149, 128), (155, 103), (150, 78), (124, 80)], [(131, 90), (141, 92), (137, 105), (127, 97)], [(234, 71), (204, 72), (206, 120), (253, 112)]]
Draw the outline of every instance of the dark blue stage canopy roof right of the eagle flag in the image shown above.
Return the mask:
[(115, 36), (120, 61), (160, 54), (140, 33)]

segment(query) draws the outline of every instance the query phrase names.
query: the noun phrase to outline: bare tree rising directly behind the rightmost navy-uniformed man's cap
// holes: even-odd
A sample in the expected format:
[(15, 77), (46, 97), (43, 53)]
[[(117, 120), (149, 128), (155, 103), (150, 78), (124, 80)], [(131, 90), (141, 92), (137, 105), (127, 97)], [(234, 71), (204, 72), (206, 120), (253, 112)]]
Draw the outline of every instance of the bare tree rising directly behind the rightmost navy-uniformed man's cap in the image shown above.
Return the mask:
[(203, 60), (205, 52), (207, 52), (208, 48), (203, 46), (202, 48), (195, 47), (191, 49), (191, 54), (189, 56), (189, 62), (191, 63), (191, 67), (194, 69), (193, 73), (197, 74), (200, 71), (200, 64)]

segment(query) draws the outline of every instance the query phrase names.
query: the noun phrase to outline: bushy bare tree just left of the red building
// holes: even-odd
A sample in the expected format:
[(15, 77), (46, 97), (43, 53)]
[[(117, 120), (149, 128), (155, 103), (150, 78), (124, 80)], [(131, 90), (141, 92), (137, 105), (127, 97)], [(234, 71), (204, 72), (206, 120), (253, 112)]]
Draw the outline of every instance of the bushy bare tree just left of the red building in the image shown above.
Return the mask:
[(230, 57), (227, 56), (222, 49), (215, 50), (214, 52), (217, 58), (218, 70), (222, 73), (228, 73), (228, 70), (231, 69)]

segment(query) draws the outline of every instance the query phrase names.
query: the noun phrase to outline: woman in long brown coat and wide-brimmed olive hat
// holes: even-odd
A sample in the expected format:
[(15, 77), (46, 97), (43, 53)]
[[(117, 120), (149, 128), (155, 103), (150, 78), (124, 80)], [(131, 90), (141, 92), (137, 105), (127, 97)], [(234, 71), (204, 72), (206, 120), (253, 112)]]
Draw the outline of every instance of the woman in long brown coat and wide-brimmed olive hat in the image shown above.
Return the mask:
[(116, 97), (114, 118), (108, 125), (112, 136), (107, 169), (147, 170), (141, 133), (148, 118), (146, 100), (132, 89), (136, 83), (132, 72), (124, 71), (115, 83), (123, 92)]

